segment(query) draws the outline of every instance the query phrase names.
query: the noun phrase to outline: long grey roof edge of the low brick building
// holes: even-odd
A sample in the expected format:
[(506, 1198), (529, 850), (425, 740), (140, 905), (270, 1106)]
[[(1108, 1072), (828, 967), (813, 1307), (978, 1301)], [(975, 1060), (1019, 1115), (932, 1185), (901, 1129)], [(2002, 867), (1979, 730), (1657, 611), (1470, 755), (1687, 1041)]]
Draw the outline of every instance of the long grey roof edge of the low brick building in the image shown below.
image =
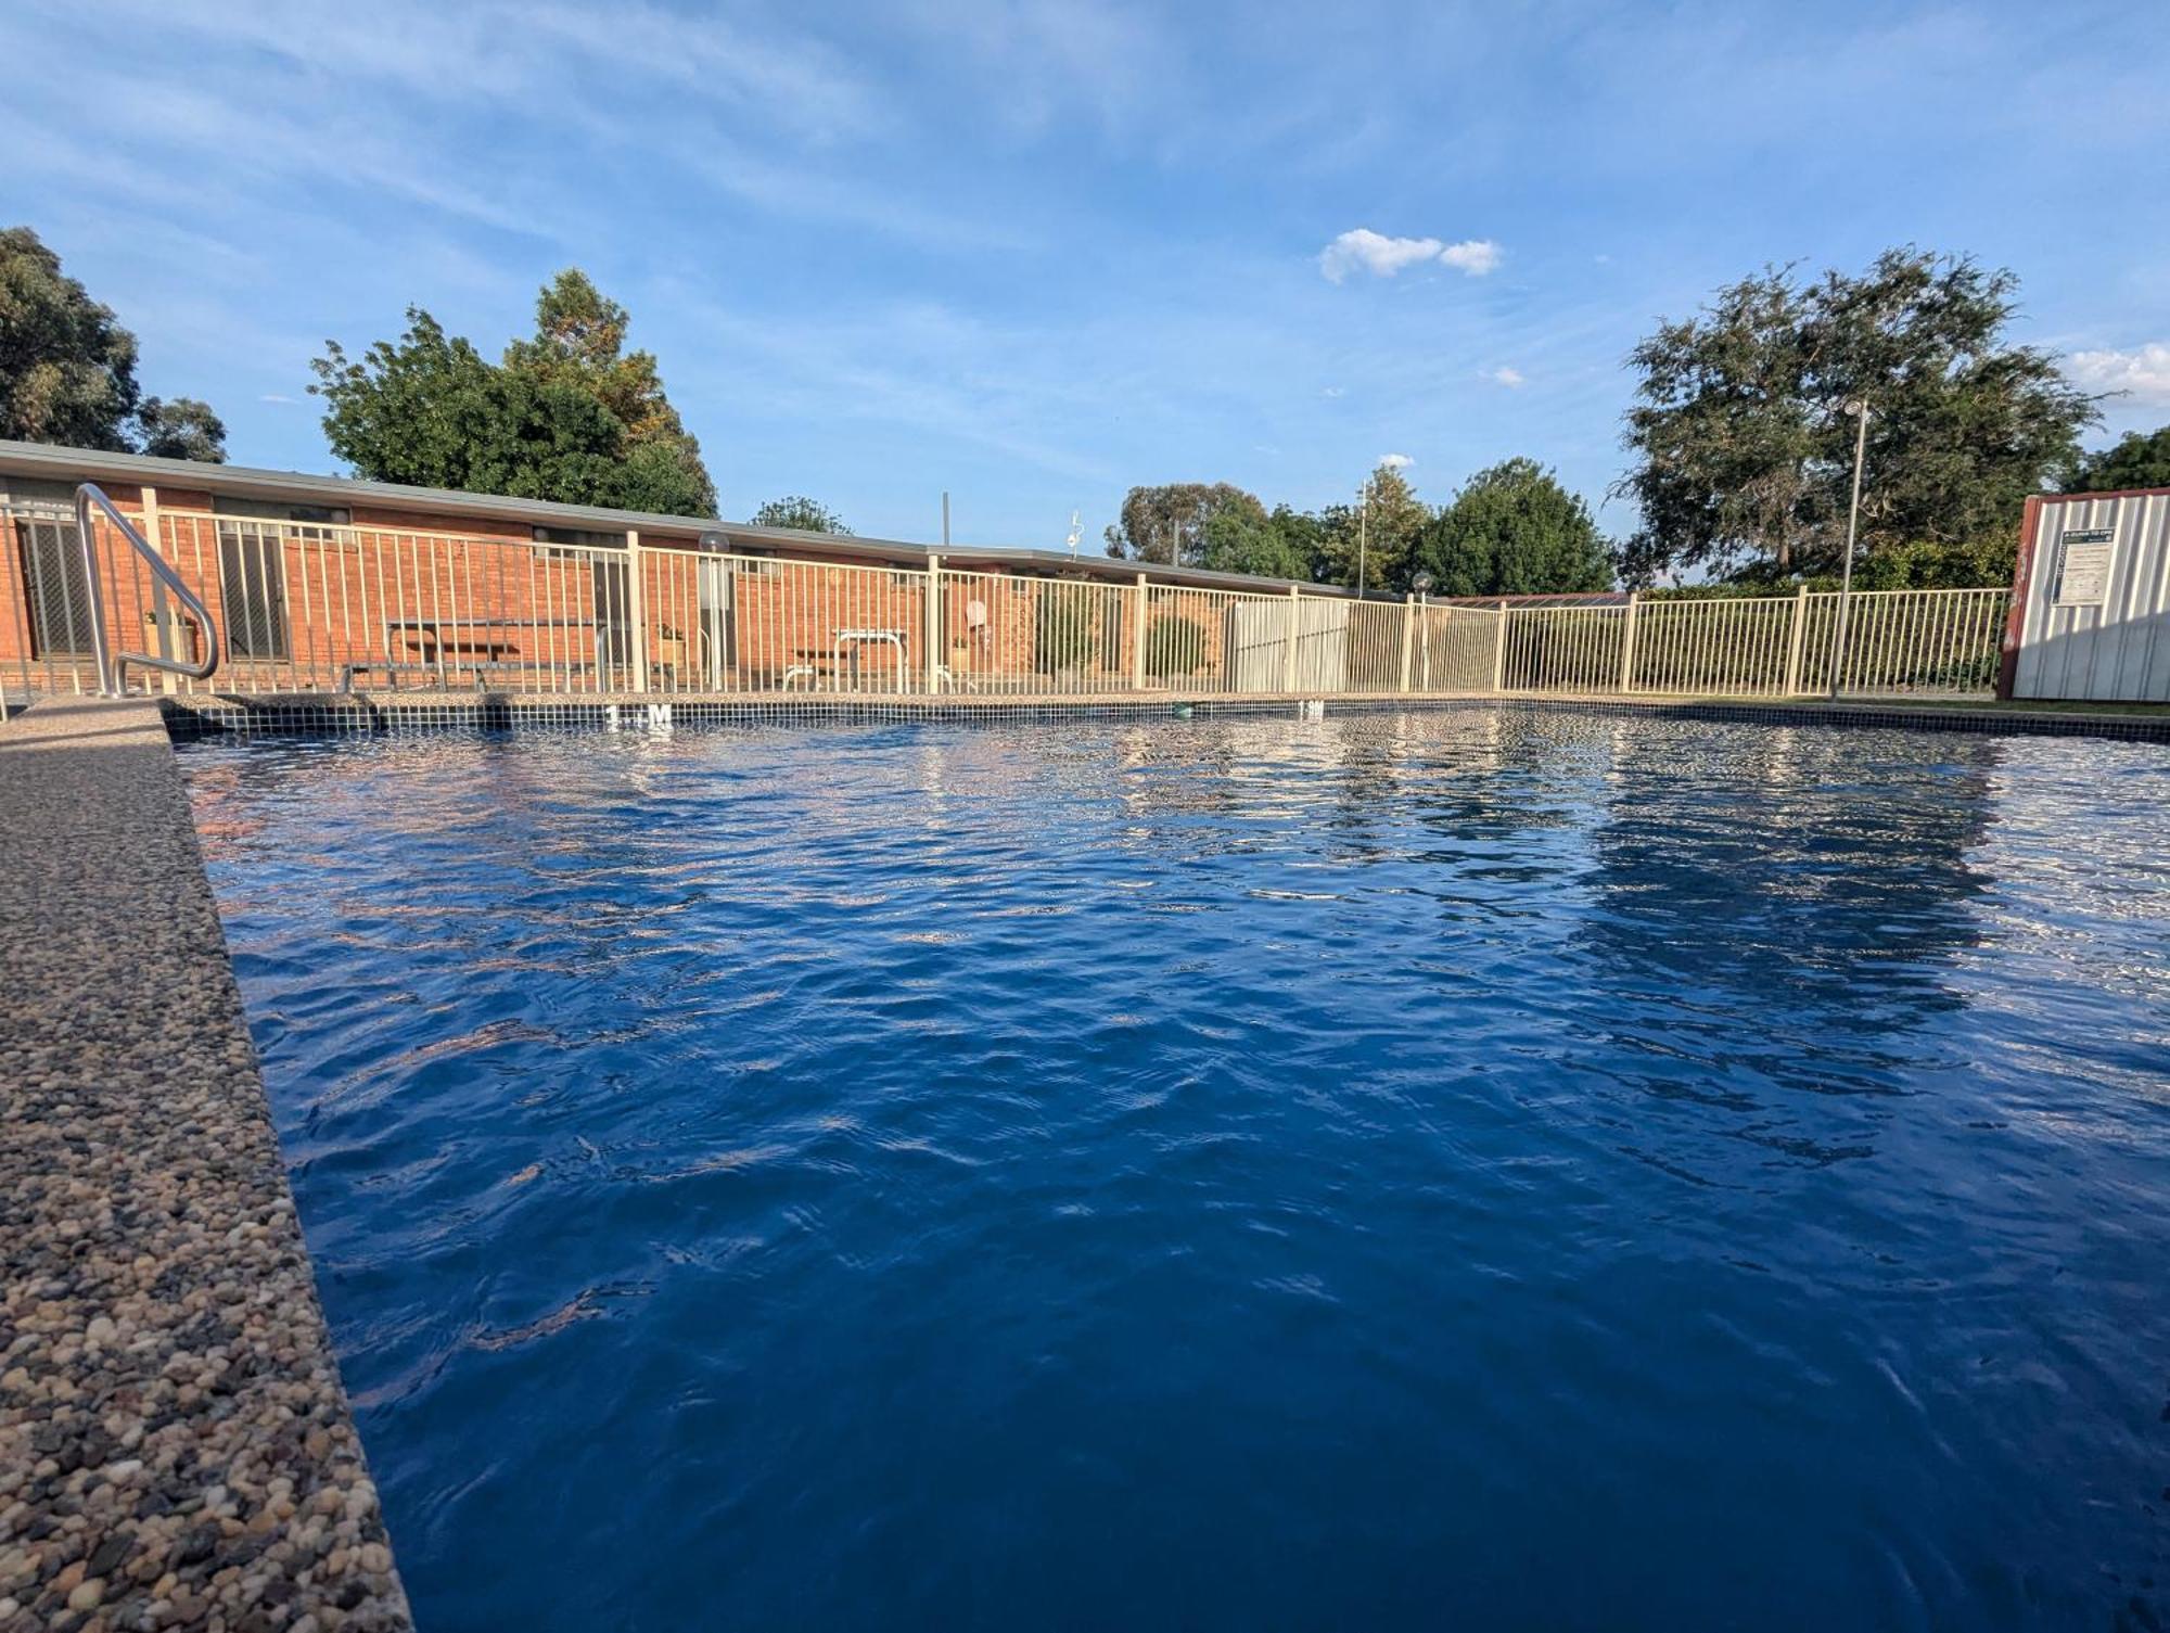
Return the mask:
[[(666, 517), (647, 510), (610, 510), (590, 504), (558, 504), (553, 499), (514, 499), (499, 493), (460, 493), (456, 489), (412, 489), (399, 482), (365, 482), (352, 476), (310, 476), (306, 471), (265, 471), (247, 465), (204, 465), (200, 460), (152, 458), (150, 454), (111, 454), (95, 447), (56, 447), (50, 443), (13, 443), (0, 439), (0, 473), (59, 482), (126, 482), (130, 486), (174, 486), (208, 491), (234, 499), (276, 499), (286, 504), (328, 504), (347, 510), (419, 510), (473, 521), (525, 523), (529, 528), (575, 528), (582, 532), (640, 532), (666, 536), (723, 534), (733, 552), (818, 552), (879, 562), (924, 562), (942, 554), (959, 567), (1003, 562), (1033, 567), (1042, 573), (1076, 573), (1083, 578), (1133, 580), (1144, 573), (1167, 584), (1200, 588), (1272, 593), (1287, 591), (1285, 578), (1252, 578), (1248, 573), (1213, 573), (1202, 567), (1161, 567), (1118, 560), (1113, 556), (1072, 556), (1063, 549), (1007, 549), (950, 545), (905, 539), (861, 539), (796, 528), (755, 528), (751, 521), (718, 521), (714, 517)], [(1356, 591), (1339, 584), (1304, 584), (1306, 595), (1345, 595)], [(1365, 599), (1395, 599), (1371, 593)]]

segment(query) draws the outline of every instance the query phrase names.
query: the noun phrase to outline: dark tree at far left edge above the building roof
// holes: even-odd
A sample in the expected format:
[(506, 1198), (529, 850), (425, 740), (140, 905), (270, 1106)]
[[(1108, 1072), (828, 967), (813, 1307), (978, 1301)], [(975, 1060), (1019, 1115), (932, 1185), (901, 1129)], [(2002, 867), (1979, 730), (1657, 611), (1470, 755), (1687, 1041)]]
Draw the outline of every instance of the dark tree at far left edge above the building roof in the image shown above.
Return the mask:
[(193, 397), (143, 400), (137, 339), (61, 271), (26, 226), (0, 230), (0, 436), (224, 460), (226, 428)]

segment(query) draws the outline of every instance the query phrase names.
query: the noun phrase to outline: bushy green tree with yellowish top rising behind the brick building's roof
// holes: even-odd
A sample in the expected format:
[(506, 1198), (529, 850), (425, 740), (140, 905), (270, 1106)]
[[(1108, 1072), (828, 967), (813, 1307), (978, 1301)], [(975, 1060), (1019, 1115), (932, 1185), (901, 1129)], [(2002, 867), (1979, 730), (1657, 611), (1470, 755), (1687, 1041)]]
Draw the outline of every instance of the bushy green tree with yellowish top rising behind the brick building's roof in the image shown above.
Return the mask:
[(536, 337), (499, 365), (410, 306), (401, 337), (358, 360), (326, 341), (310, 393), (326, 400), (332, 452), (378, 482), (712, 517), (699, 443), (655, 358), (623, 354), (625, 324), (566, 271), (536, 302)]

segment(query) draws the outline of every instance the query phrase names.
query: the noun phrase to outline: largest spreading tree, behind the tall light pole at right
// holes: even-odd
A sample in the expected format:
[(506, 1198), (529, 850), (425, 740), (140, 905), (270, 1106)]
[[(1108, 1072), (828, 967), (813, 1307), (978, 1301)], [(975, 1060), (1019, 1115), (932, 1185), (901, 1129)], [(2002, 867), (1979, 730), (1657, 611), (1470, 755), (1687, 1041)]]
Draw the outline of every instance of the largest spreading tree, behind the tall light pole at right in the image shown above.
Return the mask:
[(1831, 565), (1853, 476), (1849, 400), (1871, 404), (1862, 549), (1968, 543), (2018, 526), (2070, 465), (2094, 402), (2005, 330), (2018, 280), (1968, 256), (1888, 250), (1860, 278), (1766, 267), (1630, 356), (1643, 526), (1632, 582), (1660, 571)]

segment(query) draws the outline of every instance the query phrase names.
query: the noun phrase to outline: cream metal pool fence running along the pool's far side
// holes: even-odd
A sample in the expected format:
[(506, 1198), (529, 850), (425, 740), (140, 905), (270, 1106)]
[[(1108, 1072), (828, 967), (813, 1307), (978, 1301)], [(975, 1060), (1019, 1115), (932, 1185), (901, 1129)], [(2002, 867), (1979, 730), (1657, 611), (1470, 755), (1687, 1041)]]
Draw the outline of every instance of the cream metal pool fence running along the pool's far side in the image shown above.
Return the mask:
[[(74, 517), (33, 504), (0, 523), (0, 693), (98, 691)], [(200, 660), (202, 621), (102, 519), (95, 534), (115, 641)], [(1473, 606), (171, 508), (143, 534), (226, 651), (206, 682), (130, 684), (217, 693), (1986, 695), (2007, 606), (2003, 588), (1858, 593), (1840, 654), (1838, 595), (1805, 591)]]

